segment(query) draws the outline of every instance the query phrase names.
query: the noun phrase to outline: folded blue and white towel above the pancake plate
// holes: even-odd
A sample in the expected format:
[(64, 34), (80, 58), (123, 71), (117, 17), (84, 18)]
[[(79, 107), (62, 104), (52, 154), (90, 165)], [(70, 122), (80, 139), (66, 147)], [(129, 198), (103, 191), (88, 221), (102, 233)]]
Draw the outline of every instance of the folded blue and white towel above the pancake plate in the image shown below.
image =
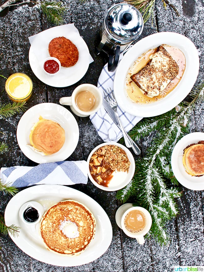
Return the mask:
[(87, 184), (86, 161), (40, 163), (37, 166), (2, 167), (0, 179), (4, 184), (26, 187), (35, 184)]

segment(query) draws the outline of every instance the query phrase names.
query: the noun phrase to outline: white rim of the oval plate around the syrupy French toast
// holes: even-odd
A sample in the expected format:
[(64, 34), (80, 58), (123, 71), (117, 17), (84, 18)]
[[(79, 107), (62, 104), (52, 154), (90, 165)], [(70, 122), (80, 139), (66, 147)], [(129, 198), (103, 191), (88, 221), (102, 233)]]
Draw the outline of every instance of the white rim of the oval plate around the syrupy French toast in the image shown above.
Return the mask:
[[(133, 62), (142, 53), (161, 44), (179, 48), (185, 55), (186, 67), (183, 77), (174, 90), (166, 97), (150, 104), (136, 104), (127, 97), (126, 75)], [(160, 32), (143, 38), (133, 45), (120, 61), (114, 78), (114, 94), (119, 106), (135, 116), (152, 117), (163, 114), (178, 105), (191, 91), (199, 71), (199, 56), (195, 45), (183, 35), (173, 32)]]

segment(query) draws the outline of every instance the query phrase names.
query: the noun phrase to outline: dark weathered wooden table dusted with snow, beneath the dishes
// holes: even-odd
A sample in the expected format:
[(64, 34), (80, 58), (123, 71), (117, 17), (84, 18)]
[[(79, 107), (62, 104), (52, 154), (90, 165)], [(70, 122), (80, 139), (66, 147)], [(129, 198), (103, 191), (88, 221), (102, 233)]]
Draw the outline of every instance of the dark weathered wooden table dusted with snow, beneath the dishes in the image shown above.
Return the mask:
[[(0, 3), (5, 1), (1, 0)], [(29, 64), (28, 54), (30, 43), (28, 37), (52, 27), (40, 10), (33, 5), (19, 5), (0, 13), (0, 74), (8, 77), (14, 72), (24, 72), (33, 81), (34, 89), (27, 103), (30, 108), (35, 104), (52, 102), (59, 104), (62, 96), (71, 95), (73, 89), (81, 83), (97, 85), (102, 67), (107, 62), (105, 56), (95, 56), (94, 50), (98, 43), (97, 33), (100, 29), (105, 12), (118, 1), (86, 0), (63, 1), (67, 7), (65, 24), (74, 23), (80, 35), (89, 47), (94, 59), (89, 65), (85, 76), (76, 84), (67, 88), (53, 88), (42, 83), (35, 77)], [(165, 1), (164, 1), (165, 2)], [(163, 1), (156, 0), (153, 22), (145, 24), (139, 40), (156, 32), (172, 31), (185, 35), (196, 46), (200, 56), (200, 72), (196, 84), (202, 83), (204, 63), (204, 3), (202, 0), (169, 0), (180, 13), (177, 16), (172, 6), (163, 7)], [(9, 101), (4, 91), (5, 80), (0, 79), (0, 103)], [(66, 106), (70, 110), (69, 106)], [(204, 132), (204, 106), (195, 109), (192, 116), (191, 132)], [(1, 154), (0, 166), (25, 165), (35, 166), (21, 152), (17, 139), (16, 128), (23, 113), (0, 120), (1, 141), (8, 144), (8, 152)], [(86, 160), (89, 152), (103, 140), (98, 136), (89, 117), (75, 116), (79, 126), (79, 141), (76, 150), (68, 160)], [(140, 146), (144, 143), (140, 142)], [(134, 239), (127, 237), (116, 225), (115, 212), (120, 205), (116, 200), (116, 192), (106, 192), (96, 188), (90, 181), (87, 185), (72, 186), (96, 200), (106, 211), (113, 228), (113, 239), (108, 250), (99, 259), (77, 267), (59, 267), (45, 264), (29, 257), (22, 252), (9, 236), (0, 235), (0, 271), (12, 272), (46, 272), (46, 271), (173, 271), (174, 265), (204, 265), (203, 221), (204, 195), (202, 191), (193, 191), (182, 186), (183, 195), (178, 201), (180, 213), (175, 220), (168, 222), (170, 236), (168, 246), (160, 246), (154, 239), (139, 245)], [(24, 188), (22, 188), (24, 189)], [(0, 212), (3, 215), (11, 196), (0, 192)]]

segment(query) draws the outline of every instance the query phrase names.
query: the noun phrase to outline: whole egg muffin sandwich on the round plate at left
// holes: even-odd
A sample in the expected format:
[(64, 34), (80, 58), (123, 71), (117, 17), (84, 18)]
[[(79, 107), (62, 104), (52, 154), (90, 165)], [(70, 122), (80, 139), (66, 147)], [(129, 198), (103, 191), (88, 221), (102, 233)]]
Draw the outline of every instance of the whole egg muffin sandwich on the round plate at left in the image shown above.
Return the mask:
[(30, 131), (30, 144), (32, 149), (51, 155), (58, 152), (65, 142), (65, 131), (55, 121), (39, 117), (39, 121)]

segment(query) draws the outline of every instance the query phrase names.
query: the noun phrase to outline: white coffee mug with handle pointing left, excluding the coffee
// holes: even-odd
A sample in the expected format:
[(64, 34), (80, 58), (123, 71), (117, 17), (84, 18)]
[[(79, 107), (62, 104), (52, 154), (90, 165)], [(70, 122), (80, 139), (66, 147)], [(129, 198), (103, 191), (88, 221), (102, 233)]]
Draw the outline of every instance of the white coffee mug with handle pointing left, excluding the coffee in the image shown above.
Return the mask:
[[(89, 91), (95, 97), (95, 104), (94, 104), (93, 108), (90, 109), (89, 111), (80, 110), (75, 103), (76, 95), (82, 91)], [(97, 110), (100, 109), (100, 107), (102, 105), (102, 94), (99, 91), (99, 89), (92, 84), (81, 84), (76, 89), (74, 89), (71, 96), (62, 97), (62, 98), (60, 98), (59, 102), (62, 105), (69, 105), (70, 109), (72, 110), (72, 112), (74, 114), (81, 116), (81, 117), (85, 117), (85, 116), (89, 116), (89, 115), (95, 113)]]

